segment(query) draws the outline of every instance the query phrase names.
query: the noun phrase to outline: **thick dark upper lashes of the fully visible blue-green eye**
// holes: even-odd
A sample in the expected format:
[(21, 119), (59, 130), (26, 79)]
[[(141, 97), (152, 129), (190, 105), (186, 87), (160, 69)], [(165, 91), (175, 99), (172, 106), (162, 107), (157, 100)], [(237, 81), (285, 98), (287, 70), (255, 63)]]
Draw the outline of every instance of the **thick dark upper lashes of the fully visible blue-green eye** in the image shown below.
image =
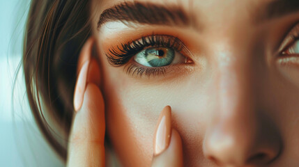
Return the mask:
[(111, 65), (121, 66), (128, 63), (132, 56), (135, 56), (135, 54), (146, 47), (169, 47), (176, 51), (181, 51), (183, 44), (181, 40), (170, 35), (144, 36), (139, 40), (121, 44), (121, 47), (117, 46), (117, 49), (112, 47), (106, 56)]

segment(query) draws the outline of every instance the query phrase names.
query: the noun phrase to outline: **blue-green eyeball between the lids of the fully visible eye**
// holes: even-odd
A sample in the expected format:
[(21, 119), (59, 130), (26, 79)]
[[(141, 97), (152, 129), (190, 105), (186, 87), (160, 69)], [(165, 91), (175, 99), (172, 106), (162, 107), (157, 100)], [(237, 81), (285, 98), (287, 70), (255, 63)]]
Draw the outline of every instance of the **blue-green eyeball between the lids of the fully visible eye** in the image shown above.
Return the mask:
[(169, 47), (151, 47), (136, 54), (134, 60), (146, 67), (163, 67), (185, 63), (187, 58)]

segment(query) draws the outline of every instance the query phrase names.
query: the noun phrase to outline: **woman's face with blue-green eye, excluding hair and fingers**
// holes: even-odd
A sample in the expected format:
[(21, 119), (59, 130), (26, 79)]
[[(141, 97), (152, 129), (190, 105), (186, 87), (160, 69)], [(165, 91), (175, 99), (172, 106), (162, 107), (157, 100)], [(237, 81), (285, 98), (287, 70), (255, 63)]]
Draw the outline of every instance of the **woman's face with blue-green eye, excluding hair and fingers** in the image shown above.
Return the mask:
[(299, 164), (298, 0), (126, 2), (92, 8), (107, 136), (124, 166), (150, 166), (167, 105), (185, 166)]

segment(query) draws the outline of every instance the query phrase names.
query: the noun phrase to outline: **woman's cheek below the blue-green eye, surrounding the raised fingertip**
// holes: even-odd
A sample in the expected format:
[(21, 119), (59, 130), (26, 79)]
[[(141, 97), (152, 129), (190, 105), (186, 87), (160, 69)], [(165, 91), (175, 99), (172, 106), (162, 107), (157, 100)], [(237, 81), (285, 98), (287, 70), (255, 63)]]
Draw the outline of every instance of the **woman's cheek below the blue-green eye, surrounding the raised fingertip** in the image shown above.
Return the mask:
[[(208, 91), (189, 83), (141, 84), (120, 68), (105, 66), (103, 90), (107, 134), (125, 166), (150, 166), (153, 134), (164, 106), (172, 108), (172, 125), (181, 134), (187, 158), (202, 158), (201, 144), (206, 122)], [(190, 77), (195, 78), (195, 77)], [(195, 79), (198, 80), (198, 79)], [(186, 114), (187, 113), (187, 114)]]

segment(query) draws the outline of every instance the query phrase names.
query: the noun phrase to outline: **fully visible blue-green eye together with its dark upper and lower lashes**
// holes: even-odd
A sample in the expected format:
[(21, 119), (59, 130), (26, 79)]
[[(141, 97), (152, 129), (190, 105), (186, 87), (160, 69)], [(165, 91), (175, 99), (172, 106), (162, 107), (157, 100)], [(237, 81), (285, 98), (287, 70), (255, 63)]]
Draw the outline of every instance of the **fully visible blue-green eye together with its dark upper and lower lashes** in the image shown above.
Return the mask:
[[(146, 55), (146, 53), (150, 54)], [(178, 38), (172, 35), (155, 34), (111, 47), (106, 53), (111, 65), (125, 66), (127, 74), (139, 76), (165, 74), (182, 64), (190, 64), (192, 60), (188, 55), (190, 51)], [(179, 56), (181, 58), (178, 58)], [(148, 60), (146, 62), (148, 65), (138, 60), (143, 60), (143, 62)]]

